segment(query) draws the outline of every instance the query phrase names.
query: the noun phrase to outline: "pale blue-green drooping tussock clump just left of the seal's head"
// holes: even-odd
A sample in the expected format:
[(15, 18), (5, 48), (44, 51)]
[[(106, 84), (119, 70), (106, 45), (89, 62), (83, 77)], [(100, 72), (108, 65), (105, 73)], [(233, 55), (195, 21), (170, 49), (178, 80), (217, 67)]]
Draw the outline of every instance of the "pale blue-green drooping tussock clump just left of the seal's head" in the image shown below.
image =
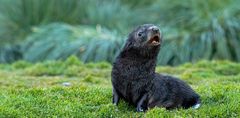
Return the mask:
[(112, 62), (123, 39), (117, 32), (101, 26), (72, 26), (54, 23), (35, 28), (22, 43), (23, 59), (31, 62), (78, 56), (83, 62)]

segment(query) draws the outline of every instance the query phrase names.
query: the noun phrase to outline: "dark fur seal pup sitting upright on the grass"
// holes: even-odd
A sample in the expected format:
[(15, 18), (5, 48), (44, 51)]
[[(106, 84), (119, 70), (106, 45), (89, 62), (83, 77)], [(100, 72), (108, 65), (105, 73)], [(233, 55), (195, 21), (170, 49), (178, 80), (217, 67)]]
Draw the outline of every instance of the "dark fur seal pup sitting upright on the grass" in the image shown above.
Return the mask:
[(128, 36), (112, 69), (113, 103), (122, 98), (137, 111), (153, 107), (198, 108), (200, 97), (180, 79), (155, 72), (162, 44), (159, 28), (152, 24), (137, 27)]

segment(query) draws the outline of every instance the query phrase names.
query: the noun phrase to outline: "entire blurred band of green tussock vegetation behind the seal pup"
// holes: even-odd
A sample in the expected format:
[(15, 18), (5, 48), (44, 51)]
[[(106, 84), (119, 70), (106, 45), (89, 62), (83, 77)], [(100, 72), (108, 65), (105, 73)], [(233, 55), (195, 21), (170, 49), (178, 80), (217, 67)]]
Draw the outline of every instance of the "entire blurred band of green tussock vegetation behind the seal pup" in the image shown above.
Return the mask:
[(239, 0), (0, 0), (0, 63), (64, 60), (70, 55), (83, 62), (112, 62), (128, 32), (144, 23), (163, 31), (158, 64), (239, 62), (239, 4)]

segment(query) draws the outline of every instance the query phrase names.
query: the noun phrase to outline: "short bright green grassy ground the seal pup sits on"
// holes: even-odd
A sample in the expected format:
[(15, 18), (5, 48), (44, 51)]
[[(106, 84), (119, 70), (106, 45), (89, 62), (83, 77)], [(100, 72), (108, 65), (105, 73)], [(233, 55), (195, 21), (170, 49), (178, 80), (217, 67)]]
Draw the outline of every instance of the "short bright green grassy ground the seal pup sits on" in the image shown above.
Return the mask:
[(111, 65), (66, 61), (0, 65), (0, 117), (240, 117), (240, 64), (201, 61), (158, 67), (181, 77), (202, 98), (197, 109), (154, 108), (136, 113), (111, 104)]

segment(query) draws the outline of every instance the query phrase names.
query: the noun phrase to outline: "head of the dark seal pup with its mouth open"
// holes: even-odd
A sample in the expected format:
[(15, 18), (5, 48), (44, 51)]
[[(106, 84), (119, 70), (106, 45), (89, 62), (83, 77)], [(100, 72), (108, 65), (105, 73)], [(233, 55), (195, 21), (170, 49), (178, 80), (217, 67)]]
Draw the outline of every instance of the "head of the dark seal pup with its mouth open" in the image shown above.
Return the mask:
[(142, 56), (151, 56), (159, 52), (162, 44), (162, 34), (158, 26), (144, 24), (135, 28), (129, 35), (125, 50), (134, 50)]

